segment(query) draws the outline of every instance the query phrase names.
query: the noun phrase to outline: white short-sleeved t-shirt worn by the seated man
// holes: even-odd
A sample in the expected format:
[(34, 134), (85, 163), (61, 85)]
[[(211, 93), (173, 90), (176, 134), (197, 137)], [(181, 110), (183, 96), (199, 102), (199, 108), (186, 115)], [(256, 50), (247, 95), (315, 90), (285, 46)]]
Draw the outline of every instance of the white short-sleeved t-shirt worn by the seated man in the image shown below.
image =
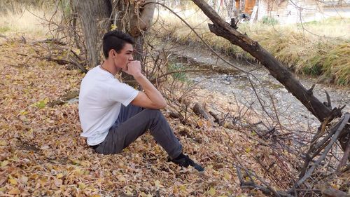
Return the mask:
[(127, 106), (138, 93), (99, 66), (87, 72), (79, 93), (81, 136), (87, 137), (87, 144), (103, 142), (118, 118), (121, 104)]

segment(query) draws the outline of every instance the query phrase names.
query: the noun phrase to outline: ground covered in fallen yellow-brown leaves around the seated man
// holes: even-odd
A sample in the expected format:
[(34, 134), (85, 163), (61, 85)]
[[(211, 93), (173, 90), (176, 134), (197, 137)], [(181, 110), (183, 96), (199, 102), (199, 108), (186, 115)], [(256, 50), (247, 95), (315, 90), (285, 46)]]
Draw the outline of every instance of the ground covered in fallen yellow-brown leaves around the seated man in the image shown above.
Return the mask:
[[(275, 158), (292, 160), (287, 151), (269, 149), (248, 130), (214, 127), (197, 116), (185, 125), (167, 118), (204, 174), (167, 163), (149, 134), (121, 154), (96, 154), (80, 137), (78, 104), (57, 103), (79, 90), (84, 74), (37, 57), (48, 43), (0, 44), (0, 196), (263, 196), (241, 189), (237, 159), (276, 189), (288, 187), (295, 168)], [(216, 102), (215, 95), (205, 102)]]

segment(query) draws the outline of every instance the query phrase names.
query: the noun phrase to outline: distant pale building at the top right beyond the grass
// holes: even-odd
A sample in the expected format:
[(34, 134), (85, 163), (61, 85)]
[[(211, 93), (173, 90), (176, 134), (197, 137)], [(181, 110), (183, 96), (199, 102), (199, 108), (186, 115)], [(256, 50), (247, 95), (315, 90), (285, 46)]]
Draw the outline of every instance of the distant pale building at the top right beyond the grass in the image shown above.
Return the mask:
[(235, 9), (249, 15), (251, 21), (272, 18), (280, 24), (290, 24), (350, 17), (350, 0), (235, 0)]

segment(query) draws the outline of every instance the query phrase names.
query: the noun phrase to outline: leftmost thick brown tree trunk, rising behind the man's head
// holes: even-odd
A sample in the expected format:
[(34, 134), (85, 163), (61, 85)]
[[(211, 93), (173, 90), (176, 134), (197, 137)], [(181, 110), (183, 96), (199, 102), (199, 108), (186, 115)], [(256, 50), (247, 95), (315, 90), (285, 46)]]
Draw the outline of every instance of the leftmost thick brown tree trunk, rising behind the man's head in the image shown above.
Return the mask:
[(103, 34), (109, 29), (111, 15), (110, 0), (73, 0), (73, 6), (78, 12), (85, 47), (87, 49), (87, 62), (89, 67), (95, 67), (101, 62), (99, 51)]

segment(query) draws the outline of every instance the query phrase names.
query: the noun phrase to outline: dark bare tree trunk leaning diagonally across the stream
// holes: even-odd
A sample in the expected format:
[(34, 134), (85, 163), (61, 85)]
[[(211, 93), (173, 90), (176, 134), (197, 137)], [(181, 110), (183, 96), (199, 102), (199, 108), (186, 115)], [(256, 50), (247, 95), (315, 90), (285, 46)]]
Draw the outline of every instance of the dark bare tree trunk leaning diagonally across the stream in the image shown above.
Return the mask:
[(241, 34), (236, 29), (232, 28), (204, 1), (193, 0), (193, 2), (201, 8), (205, 15), (214, 22), (214, 25), (209, 24), (211, 32), (217, 36), (228, 39), (232, 44), (241, 47), (243, 50), (250, 53), (253, 57), (261, 62), (283, 86), (292, 93), (297, 100), (300, 100), (309, 111), (322, 123), (326, 118), (331, 120), (339, 113), (332, 113), (332, 110), (326, 107), (312, 94), (312, 90), (307, 90), (295, 77), (283, 67), (281, 62), (276, 60), (265, 48), (262, 48), (258, 42), (251, 40), (248, 36)]

